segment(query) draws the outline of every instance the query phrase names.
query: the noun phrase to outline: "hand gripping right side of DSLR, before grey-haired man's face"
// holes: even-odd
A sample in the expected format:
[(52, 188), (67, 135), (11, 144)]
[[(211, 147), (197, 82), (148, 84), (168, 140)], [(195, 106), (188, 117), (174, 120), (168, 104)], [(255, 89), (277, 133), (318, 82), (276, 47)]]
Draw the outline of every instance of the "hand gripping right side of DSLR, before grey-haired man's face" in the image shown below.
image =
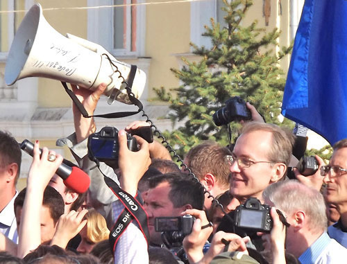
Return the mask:
[(272, 207), (271, 218), (273, 219), (273, 227), (270, 234), (257, 233), (262, 236), (264, 251), (271, 252), (273, 264), (283, 264), (285, 261), (285, 225), (280, 221), (280, 216), (276, 212), (276, 208)]

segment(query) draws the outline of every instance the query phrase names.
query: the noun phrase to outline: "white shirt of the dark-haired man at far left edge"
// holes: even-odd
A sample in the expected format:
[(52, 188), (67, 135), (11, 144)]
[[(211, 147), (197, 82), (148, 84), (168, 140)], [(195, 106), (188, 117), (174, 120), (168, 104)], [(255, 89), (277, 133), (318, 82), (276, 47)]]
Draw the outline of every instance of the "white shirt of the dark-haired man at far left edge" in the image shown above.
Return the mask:
[(18, 234), (13, 204), (15, 203), (15, 198), (17, 195), (18, 192), (16, 191), (16, 194), (12, 197), (12, 200), (10, 200), (3, 211), (0, 212), (0, 232), (10, 238), (10, 240), (16, 244), (18, 244)]

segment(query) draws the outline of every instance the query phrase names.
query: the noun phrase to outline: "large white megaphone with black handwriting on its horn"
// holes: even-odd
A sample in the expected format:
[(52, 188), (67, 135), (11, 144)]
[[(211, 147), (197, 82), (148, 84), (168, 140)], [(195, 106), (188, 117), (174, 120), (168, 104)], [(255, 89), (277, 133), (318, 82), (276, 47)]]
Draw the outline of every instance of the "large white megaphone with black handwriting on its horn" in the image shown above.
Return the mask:
[[(119, 100), (130, 104), (124, 80), (128, 81), (130, 65), (119, 62), (102, 46), (80, 37), (64, 37), (44, 19), (40, 4), (28, 10), (12, 42), (5, 68), (6, 85), (26, 77), (44, 77), (87, 89), (96, 89), (102, 82), (109, 103)], [(141, 96), (146, 74), (136, 69), (131, 91)], [(129, 78), (129, 79), (130, 79)], [(130, 80), (131, 82), (131, 80)]]

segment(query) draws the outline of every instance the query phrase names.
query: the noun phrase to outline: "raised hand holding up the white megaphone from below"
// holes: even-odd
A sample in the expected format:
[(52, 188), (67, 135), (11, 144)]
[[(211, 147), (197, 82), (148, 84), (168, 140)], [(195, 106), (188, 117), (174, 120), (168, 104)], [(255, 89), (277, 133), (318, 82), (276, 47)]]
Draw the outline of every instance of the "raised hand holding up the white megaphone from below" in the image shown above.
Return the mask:
[[(80, 100), (83, 107), (85, 107), (87, 113), (89, 115), (94, 114), (96, 105), (103, 91), (105, 91), (106, 85), (102, 83), (95, 91), (78, 88), (76, 85), (71, 85), (71, 87), (78, 100)], [(77, 143), (79, 143), (96, 131), (96, 125), (94, 123), (94, 118), (84, 118), (74, 103), (72, 103), (72, 112), (74, 113), (76, 139)]]

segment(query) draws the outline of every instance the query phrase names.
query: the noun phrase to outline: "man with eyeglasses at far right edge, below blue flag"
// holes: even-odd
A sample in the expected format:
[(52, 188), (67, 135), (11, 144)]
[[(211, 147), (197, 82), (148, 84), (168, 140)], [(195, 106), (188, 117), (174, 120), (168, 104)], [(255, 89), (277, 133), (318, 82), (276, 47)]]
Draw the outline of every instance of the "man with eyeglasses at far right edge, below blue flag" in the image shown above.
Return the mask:
[(335, 225), (328, 227), (328, 234), (347, 247), (347, 139), (338, 141), (332, 148), (332, 157), (328, 166), (321, 167), (321, 175), (326, 184), (325, 200), (337, 206), (341, 217)]

